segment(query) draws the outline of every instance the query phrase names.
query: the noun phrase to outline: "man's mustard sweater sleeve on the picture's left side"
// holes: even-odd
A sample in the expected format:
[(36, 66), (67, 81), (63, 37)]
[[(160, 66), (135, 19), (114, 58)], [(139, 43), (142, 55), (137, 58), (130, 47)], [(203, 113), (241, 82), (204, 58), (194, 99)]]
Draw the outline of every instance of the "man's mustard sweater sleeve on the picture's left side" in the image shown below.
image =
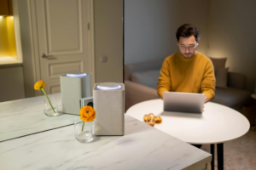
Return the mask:
[(170, 65), (167, 62), (167, 59), (165, 59), (160, 70), (160, 77), (158, 78), (157, 94), (163, 99), (164, 92), (169, 92), (170, 90)]

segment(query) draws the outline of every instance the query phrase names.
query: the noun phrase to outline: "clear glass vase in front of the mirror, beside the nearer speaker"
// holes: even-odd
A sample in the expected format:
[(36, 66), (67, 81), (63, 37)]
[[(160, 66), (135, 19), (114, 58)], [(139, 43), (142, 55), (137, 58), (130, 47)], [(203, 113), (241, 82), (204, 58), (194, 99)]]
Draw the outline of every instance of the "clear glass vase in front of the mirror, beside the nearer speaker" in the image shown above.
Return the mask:
[(74, 136), (80, 143), (89, 143), (92, 138), (92, 124), (93, 122), (84, 122), (80, 117), (75, 118)]

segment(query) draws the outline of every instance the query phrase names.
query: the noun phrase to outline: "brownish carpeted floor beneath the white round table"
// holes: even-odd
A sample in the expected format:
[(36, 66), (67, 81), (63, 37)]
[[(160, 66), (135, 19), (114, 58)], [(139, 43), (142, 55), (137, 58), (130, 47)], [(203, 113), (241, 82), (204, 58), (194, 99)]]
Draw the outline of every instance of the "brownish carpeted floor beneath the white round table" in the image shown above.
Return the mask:
[[(215, 147), (216, 149), (217, 147)], [(210, 153), (210, 144), (201, 146)], [(215, 150), (216, 151), (216, 150)], [(209, 166), (208, 169), (211, 169)], [(215, 152), (215, 168), (217, 153)], [(256, 131), (249, 130), (239, 139), (224, 143), (224, 170), (255, 170), (256, 169)]]

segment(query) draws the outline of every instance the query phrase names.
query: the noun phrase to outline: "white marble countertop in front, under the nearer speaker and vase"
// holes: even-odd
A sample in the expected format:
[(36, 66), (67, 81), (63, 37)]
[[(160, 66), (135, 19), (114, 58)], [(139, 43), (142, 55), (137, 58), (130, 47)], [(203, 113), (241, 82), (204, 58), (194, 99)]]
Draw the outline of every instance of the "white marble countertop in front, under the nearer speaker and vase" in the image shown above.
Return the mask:
[[(125, 115), (125, 135), (81, 144), (73, 126), (0, 142), (1, 169), (198, 169), (212, 156)], [(203, 169), (203, 168), (201, 168)]]

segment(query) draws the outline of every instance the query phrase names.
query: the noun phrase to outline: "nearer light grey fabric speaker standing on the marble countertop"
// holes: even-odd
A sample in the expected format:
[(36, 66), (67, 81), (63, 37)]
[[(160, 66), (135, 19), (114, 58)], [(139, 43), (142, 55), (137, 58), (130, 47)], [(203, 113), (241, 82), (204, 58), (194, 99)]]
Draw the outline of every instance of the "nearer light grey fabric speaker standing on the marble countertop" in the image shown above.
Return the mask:
[(93, 88), (96, 110), (96, 135), (125, 134), (125, 85), (123, 83), (96, 83)]

